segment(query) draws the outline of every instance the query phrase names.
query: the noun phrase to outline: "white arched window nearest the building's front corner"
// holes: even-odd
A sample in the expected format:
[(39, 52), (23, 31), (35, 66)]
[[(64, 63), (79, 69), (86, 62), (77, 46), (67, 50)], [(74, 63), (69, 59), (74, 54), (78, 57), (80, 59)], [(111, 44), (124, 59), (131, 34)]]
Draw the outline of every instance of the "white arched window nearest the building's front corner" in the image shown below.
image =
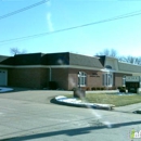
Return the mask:
[(87, 75), (85, 72), (78, 73), (78, 86), (82, 87), (87, 84)]

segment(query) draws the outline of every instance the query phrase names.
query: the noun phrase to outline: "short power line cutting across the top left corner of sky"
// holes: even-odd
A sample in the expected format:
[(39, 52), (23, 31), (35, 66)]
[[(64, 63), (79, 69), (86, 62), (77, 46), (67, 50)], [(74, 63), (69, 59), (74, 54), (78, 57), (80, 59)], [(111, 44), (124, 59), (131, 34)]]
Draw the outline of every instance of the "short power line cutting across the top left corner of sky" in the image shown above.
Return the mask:
[(8, 13), (8, 14), (5, 14), (5, 15), (1, 15), (1, 16), (0, 16), (0, 20), (7, 18), (7, 17), (9, 17), (9, 16), (18, 14), (18, 13), (24, 12), (24, 11), (27, 11), (27, 10), (29, 10), (29, 9), (33, 9), (33, 8), (38, 7), (38, 5), (40, 5), (40, 4), (43, 4), (43, 3), (48, 2), (48, 1), (49, 1), (49, 0), (42, 0), (42, 1), (39, 1), (39, 2), (34, 3), (34, 4), (31, 4), (31, 5), (25, 7), (25, 8), (23, 8), (23, 9), (16, 10), (16, 11), (13, 11), (13, 12), (11, 12), (11, 13)]

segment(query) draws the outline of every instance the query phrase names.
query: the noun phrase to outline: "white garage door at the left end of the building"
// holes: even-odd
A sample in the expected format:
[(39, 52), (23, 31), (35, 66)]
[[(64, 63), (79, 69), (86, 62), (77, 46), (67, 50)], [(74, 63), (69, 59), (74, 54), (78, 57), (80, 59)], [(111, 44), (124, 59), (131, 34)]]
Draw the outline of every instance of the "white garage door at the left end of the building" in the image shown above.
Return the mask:
[(0, 86), (7, 86), (7, 70), (0, 69)]

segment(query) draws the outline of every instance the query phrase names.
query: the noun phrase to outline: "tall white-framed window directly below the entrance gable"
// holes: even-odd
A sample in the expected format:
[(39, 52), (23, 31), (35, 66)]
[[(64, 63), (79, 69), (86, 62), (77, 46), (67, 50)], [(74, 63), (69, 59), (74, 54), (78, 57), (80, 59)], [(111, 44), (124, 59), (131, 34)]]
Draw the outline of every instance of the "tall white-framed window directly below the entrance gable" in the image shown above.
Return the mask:
[(103, 74), (103, 86), (105, 87), (112, 87), (113, 86), (113, 74), (112, 73), (106, 73), (106, 74)]

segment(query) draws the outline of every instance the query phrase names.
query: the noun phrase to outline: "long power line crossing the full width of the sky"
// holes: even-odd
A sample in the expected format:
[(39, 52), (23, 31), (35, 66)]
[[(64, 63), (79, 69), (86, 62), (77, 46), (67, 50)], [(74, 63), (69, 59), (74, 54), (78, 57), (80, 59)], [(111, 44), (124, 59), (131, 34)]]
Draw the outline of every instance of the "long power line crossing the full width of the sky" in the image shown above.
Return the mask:
[[(137, 13), (137, 12), (139, 12), (139, 13)], [(31, 38), (38, 38), (38, 37), (51, 35), (51, 34), (57, 34), (57, 33), (62, 33), (62, 31), (67, 31), (67, 30), (72, 30), (72, 29), (82, 28), (82, 27), (92, 26), (92, 25), (95, 25), (95, 24), (102, 24), (102, 23), (117, 21), (117, 20), (127, 18), (127, 17), (131, 17), (131, 16), (137, 16), (137, 15), (141, 15), (141, 10), (140, 11), (136, 11), (136, 12), (130, 12), (130, 13), (127, 13), (127, 14), (123, 14), (123, 15), (119, 15), (119, 16), (105, 18), (105, 20), (101, 20), (101, 21), (98, 21), (98, 22), (88, 23), (88, 24), (84, 24), (84, 25), (79, 25), (79, 26), (73, 26), (73, 27), (68, 27), (68, 28), (64, 28), (64, 29), (59, 29), (59, 30), (54, 30), (54, 31), (47, 31), (47, 33), (31, 35), (31, 36), (24, 36), (24, 37), (8, 39), (8, 40), (1, 40), (0, 43), (26, 40), (26, 39), (29, 39), (29, 38), (30, 39)]]

